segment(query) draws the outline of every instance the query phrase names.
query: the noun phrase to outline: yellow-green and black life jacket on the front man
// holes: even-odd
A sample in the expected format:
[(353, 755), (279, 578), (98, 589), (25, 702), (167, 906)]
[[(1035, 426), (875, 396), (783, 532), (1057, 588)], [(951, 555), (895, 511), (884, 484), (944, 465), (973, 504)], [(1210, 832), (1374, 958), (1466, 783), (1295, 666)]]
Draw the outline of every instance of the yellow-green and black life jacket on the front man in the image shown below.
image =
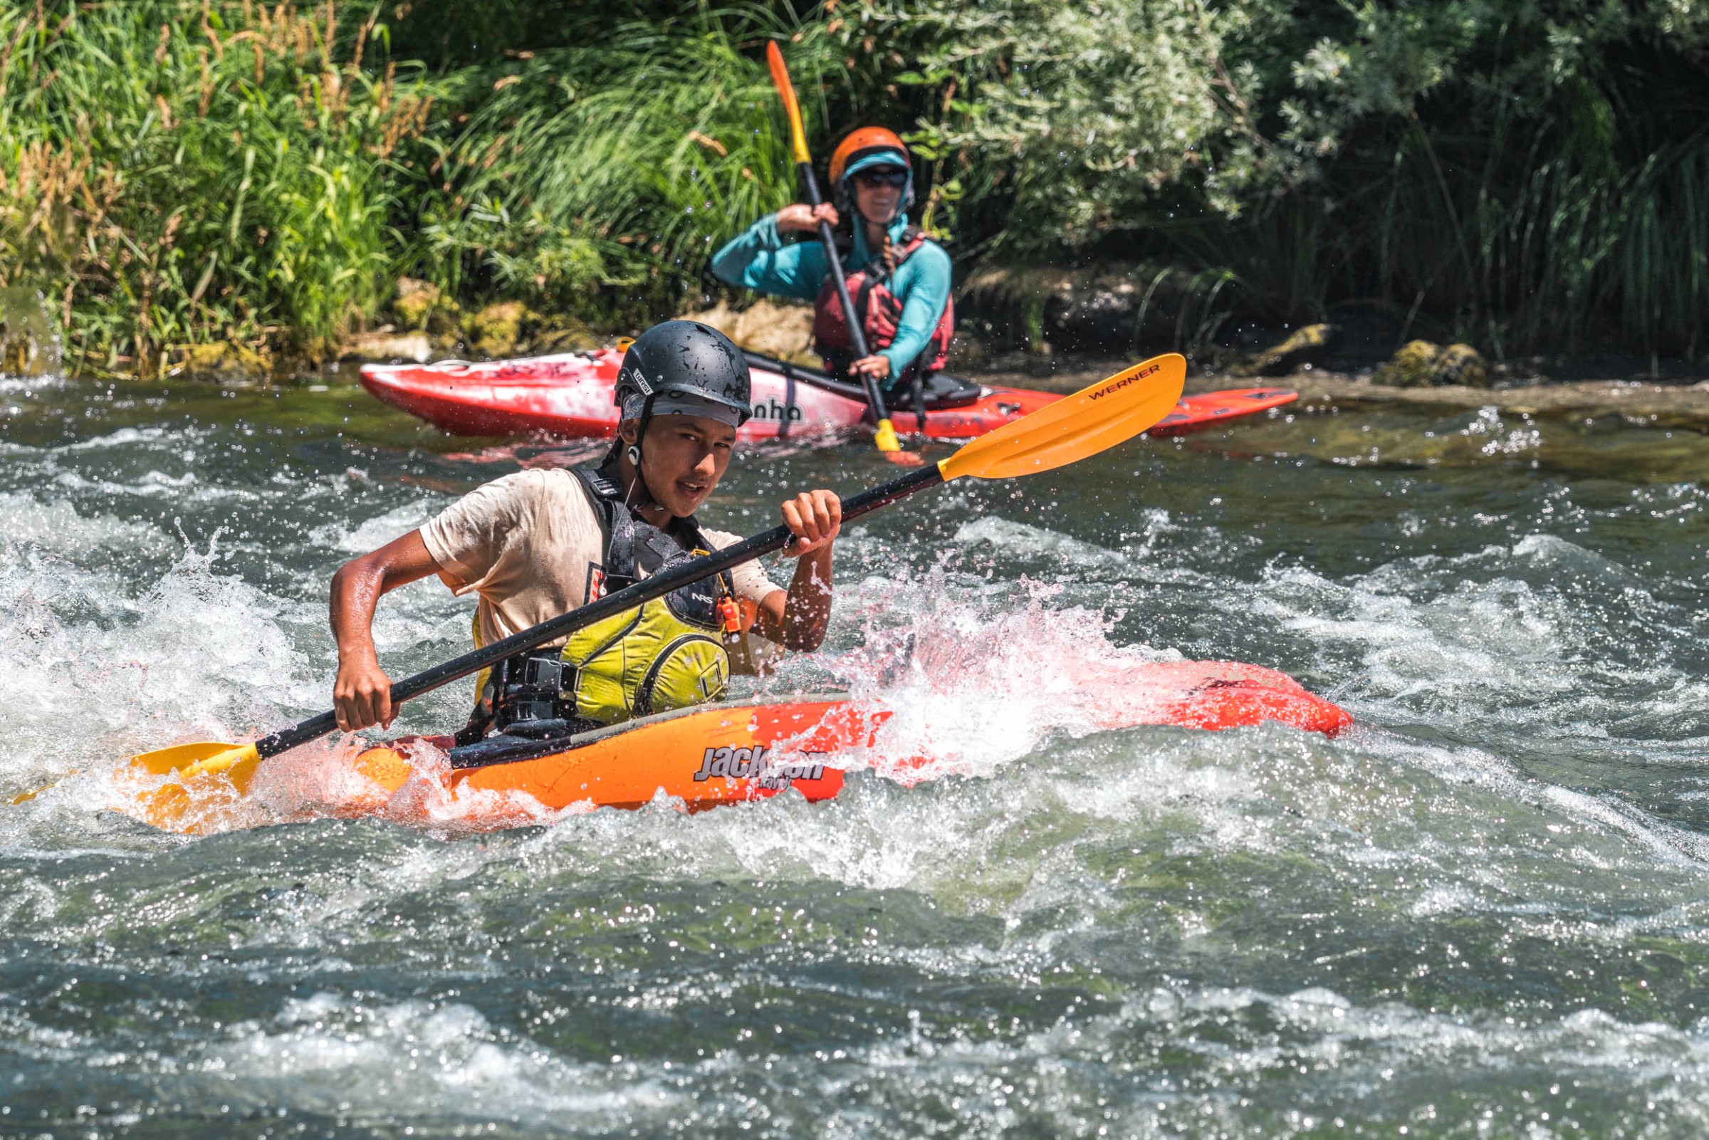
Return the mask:
[[(605, 566), (588, 602), (644, 576), (711, 550), (692, 516), (675, 520), (672, 535), (634, 514), (603, 472), (574, 468), (602, 514)], [(479, 740), (487, 725), (501, 733), (554, 737), (634, 716), (704, 704), (730, 684), (730, 649), (743, 622), (728, 574), (678, 586), (639, 608), (571, 634), (562, 649), (542, 649), (494, 668), (475, 718), (458, 743)]]

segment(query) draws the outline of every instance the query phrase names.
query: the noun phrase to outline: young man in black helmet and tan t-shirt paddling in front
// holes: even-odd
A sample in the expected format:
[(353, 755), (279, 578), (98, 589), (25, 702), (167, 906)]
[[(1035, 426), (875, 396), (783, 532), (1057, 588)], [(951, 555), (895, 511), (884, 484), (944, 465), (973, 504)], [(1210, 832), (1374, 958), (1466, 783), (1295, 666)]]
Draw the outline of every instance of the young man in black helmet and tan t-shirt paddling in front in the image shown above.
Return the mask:
[[(696, 549), (740, 540), (701, 530), (694, 511), (723, 479), (737, 427), (750, 414), (742, 352), (706, 325), (655, 325), (624, 354), (615, 400), (619, 439), (600, 467), (506, 475), (338, 569), (332, 627), (340, 728), (390, 725), (396, 711), (371, 632), (374, 605), (390, 590), (439, 574), (460, 595), (479, 593), (473, 632), (487, 644)], [(831, 547), (841, 518), (829, 491), (783, 504), (795, 533), (784, 554), (796, 559), (786, 591), (745, 562), (504, 661), (482, 675), (458, 743), (494, 730), (554, 737), (709, 701), (723, 692), (730, 649), (749, 626), (784, 648), (817, 649), (831, 619)]]

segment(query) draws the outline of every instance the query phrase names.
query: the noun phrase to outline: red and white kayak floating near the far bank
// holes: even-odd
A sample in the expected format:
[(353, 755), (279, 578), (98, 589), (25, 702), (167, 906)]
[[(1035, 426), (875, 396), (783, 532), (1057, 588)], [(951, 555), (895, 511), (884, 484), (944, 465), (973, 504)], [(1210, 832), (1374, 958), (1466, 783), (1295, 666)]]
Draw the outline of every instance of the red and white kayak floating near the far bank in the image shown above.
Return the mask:
[[(362, 386), (376, 398), (458, 436), (538, 432), (564, 439), (617, 434), (612, 388), (622, 352), (566, 352), (521, 361), (441, 361), (438, 364), (364, 364)], [(861, 390), (825, 373), (749, 354), (754, 369), (754, 417), (742, 439), (798, 439), (860, 429), (866, 417)], [(988, 388), (935, 376), (918, 408), (890, 408), (896, 429), (928, 439), (972, 439), (1061, 397), (1029, 388)], [(1186, 397), (1152, 434), (1176, 434), (1251, 415), (1295, 400), (1282, 388), (1242, 388)]]

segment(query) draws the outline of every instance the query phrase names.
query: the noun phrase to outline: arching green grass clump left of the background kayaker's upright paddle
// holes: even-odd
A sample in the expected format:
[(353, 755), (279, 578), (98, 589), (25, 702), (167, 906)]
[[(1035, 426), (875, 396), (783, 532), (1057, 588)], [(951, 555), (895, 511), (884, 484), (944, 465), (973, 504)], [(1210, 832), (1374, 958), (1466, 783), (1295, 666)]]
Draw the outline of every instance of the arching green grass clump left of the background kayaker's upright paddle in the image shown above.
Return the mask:
[(612, 320), (675, 311), (719, 243), (795, 200), (757, 51), (772, 38), (805, 92), (839, 70), (824, 27), (745, 3), (475, 72), (489, 91), (444, 156), (451, 197), (424, 215), (424, 275)]

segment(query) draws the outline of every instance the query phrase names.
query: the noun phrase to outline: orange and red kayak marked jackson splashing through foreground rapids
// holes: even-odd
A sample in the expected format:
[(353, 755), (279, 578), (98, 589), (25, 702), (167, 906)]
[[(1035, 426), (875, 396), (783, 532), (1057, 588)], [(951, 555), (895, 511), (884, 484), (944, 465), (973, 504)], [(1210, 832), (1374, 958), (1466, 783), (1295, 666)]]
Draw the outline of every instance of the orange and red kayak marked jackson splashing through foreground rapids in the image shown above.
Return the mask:
[[(1352, 725), (1345, 709), (1287, 673), (1232, 661), (1159, 661), (1128, 670), (1095, 728), (1176, 725), (1244, 728), (1277, 721), (1328, 737)], [(731, 701), (660, 713), (567, 738), (489, 737), (453, 749), (451, 737), (403, 737), (355, 752), (302, 747), (229, 774), (166, 783), (130, 774), (120, 810), (169, 831), (207, 832), (316, 817), (385, 817), (426, 827), (487, 831), (550, 822), (561, 812), (637, 808), (660, 798), (699, 812), (798, 791), (829, 800), (846, 771), (870, 767), (913, 784), (954, 762), (919, 742), (887, 735), (892, 713), (844, 694)], [(894, 733), (892, 733), (894, 735)], [(147, 805), (174, 793), (171, 812)]]

